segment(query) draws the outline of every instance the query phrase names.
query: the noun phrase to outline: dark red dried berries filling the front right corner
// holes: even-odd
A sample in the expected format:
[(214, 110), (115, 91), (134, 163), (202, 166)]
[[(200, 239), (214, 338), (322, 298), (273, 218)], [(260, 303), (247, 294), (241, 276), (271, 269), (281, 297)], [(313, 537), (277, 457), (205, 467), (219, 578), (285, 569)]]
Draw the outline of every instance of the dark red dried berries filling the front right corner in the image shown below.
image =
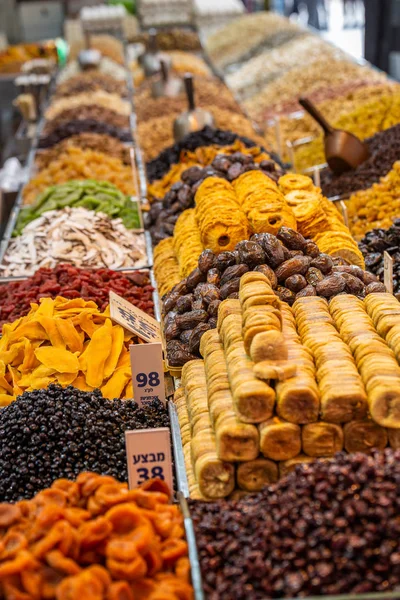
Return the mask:
[(340, 453), (255, 496), (190, 505), (208, 600), (400, 585), (400, 451)]

